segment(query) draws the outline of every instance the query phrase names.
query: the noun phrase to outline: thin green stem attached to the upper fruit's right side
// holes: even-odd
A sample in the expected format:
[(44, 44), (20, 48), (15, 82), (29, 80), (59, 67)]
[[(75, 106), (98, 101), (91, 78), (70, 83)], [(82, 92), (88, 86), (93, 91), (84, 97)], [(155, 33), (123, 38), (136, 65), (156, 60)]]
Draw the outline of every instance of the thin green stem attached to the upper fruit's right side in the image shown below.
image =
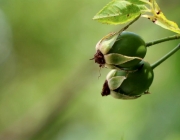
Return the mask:
[(165, 41), (169, 41), (169, 40), (175, 40), (175, 39), (180, 39), (180, 34), (177, 34), (177, 35), (173, 35), (173, 36), (161, 38), (161, 39), (159, 39), (159, 40), (155, 40), (155, 41), (148, 42), (148, 43), (146, 43), (146, 47), (149, 47), (149, 46), (152, 46), (152, 45), (155, 45), (155, 44), (159, 44), (159, 43), (162, 43), (162, 42), (165, 42)]

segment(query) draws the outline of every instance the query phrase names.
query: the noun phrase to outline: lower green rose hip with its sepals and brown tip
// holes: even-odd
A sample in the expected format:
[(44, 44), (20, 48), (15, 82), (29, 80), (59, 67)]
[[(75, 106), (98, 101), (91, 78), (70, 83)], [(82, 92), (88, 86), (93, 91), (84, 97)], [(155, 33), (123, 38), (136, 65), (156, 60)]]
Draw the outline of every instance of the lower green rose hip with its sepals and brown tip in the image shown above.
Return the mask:
[(153, 69), (148, 62), (139, 63), (134, 72), (111, 70), (106, 77), (102, 96), (111, 94), (119, 99), (135, 99), (146, 93), (154, 78)]

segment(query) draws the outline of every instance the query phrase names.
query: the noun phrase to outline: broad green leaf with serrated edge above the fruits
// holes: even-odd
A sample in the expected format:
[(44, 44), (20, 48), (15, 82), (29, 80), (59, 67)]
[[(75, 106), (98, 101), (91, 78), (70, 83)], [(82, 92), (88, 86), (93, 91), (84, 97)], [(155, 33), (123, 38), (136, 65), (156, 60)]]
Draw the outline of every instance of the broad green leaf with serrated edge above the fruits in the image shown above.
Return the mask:
[(106, 24), (124, 24), (141, 14), (139, 7), (128, 1), (113, 0), (95, 16), (94, 20)]

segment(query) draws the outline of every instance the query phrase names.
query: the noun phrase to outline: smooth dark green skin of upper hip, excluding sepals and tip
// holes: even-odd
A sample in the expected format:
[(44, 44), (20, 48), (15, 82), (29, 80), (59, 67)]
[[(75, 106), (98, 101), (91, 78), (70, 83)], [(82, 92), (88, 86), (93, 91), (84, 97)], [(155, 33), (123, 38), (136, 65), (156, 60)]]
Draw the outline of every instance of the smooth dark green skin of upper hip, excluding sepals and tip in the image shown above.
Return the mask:
[[(130, 57), (144, 58), (146, 55), (146, 44), (144, 40), (137, 34), (132, 32), (122, 32), (113, 47), (110, 49), (110, 53), (118, 53)], [(124, 64), (120, 64), (120, 67), (133, 67), (137, 65), (141, 60), (135, 59)]]

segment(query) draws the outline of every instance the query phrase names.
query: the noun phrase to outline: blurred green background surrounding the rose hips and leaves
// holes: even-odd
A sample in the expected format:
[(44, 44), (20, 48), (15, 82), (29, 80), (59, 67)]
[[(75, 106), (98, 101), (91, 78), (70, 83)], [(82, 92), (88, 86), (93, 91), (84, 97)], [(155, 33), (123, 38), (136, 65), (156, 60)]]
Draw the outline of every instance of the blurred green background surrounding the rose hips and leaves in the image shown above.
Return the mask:
[[(179, 140), (180, 53), (155, 69), (150, 95), (102, 97), (108, 69), (89, 59), (122, 25), (92, 17), (109, 0), (0, 0), (1, 140)], [(180, 1), (158, 0), (180, 25)], [(175, 33), (145, 18), (129, 29), (146, 42)], [(155, 62), (180, 41), (148, 48)]]

